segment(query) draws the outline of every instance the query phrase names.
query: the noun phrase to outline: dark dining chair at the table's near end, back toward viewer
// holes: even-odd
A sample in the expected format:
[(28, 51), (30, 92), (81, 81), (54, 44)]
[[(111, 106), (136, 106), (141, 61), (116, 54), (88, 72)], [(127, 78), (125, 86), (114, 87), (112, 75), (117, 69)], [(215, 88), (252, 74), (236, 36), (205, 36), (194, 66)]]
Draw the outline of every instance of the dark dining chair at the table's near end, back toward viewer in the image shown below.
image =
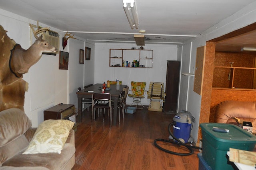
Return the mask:
[(110, 113), (109, 127), (111, 127), (111, 121), (112, 121), (111, 94), (109, 93), (93, 93), (92, 94), (92, 122), (93, 122), (93, 113), (94, 113), (94, 120), (97, 120), (97, 108), (104, 109), (103, 122), (105, 120), (105, 110), (108, 109), (108, 113)]

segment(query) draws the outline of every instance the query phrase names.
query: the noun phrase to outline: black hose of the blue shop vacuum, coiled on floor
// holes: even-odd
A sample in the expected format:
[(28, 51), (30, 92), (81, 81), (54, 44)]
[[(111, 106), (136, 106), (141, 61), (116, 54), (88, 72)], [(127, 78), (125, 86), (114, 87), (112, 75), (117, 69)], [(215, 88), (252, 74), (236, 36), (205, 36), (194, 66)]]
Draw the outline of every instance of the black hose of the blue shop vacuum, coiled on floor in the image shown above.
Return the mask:
[[(178, 138), (176, 138), (176, 137), (172, 134), (172, 132), (171, 132), (171, 130), (170, 130), (170, 128), (171, 128), (171, 126), (172, 126), (173, 124), (175, 124), (175, 123), (172, 122), (172, 123), (169, 124), (169, 126), (168, 126), (168, 131), (169, 131), (169, 134), (172, 136), (172, 138), (176, 140), (176, 142), (171, 141), (171, 140), (165, 140), (165, 139), (156, 139), (156, 140), (154, 140), (154, 145), (155, 145), (158, 149), (160, 149), (160, 150), (162, 150), (162, 151), (164, 151), (164, 152), (167, 152), (167, 153), (169, 153), (169, 154), (175, 154), (175, 155), (179, 155), (179, 156), (188, 156), (188, 155), (194, 154), (193, 148), (195, 148), (195, 149), (202, 149), (202, 148), (197, 147), (197, 146), (190, 146), (190, 145), (184, 144), (184, 143), (182, 143)], [(172, 143), (172, 144), (177, 144), (177, 145), (179, 145), (179, 146), (185, 146), (185, 147), (189, 150), (189, 152), (188, 152), (188, 153), (179, 153), (179, 152), (173, 152), (173, 151), (170, 151), (170, 150), (166, 150), (166, 149), (162, 148), (161, 146), (159, 146), (159, 145), (157, 144), (157, 141), (163, 141), (163, 142), (168, 142), (168, 143)]]

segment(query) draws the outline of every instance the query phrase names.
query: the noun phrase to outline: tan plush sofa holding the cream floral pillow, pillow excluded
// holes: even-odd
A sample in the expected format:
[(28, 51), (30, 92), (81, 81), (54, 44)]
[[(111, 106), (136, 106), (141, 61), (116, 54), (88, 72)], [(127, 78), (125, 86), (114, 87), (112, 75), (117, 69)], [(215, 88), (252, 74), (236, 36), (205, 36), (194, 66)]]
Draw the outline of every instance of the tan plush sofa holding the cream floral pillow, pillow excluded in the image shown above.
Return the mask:
[(70, 130), (61, 153), (22, 154), (37, 128), (23, 110), (0, 112), (0, 170), (71, 170), (75, 163), (74, 130)]

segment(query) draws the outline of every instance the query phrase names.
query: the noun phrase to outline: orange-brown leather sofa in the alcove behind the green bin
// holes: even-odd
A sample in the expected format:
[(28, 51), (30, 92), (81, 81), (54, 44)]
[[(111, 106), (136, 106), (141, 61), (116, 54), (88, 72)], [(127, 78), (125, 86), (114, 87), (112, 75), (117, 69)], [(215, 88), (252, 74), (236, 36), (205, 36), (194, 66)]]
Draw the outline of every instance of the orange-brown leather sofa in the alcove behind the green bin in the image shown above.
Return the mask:
[(216, 123), (230, 123), (238, 125), (234, 118), (252, 122), (253, 133), (256, 134), (256, 102), (224, 101), (215, 110)]

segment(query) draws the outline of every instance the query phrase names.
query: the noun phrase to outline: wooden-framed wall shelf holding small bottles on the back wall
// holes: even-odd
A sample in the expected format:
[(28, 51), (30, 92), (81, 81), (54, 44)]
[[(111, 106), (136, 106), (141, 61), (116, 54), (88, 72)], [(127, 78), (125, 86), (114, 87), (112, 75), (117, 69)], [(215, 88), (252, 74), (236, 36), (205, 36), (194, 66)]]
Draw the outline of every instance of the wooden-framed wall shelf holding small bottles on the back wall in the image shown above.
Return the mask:
[(109, 66), (152, 68), (153, 50), (109, 49)]

